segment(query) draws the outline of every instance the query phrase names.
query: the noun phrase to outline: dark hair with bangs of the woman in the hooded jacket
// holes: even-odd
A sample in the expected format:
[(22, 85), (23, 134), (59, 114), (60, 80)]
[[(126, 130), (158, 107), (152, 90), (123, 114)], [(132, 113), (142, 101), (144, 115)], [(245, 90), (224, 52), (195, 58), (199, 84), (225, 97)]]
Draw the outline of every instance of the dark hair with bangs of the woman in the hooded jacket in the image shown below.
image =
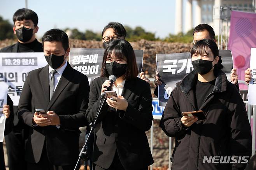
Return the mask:
[[(212, 51), (214, 58), (219, 56), (219, 49), (217, 44), (213, 40), (203, 39), (203, 40), (199, 40), (198, 42), (195, 43), (195, 45), (193, 45), (190, 52), (191, 57), (195, 53), (198, 53), (201, 56), (203, 56), (203, 53), (207, 53), (207, 50), (206, 50), (207, 48), (209, 48)], [(222, 59), (221, 59), (221, 56), (219, 56), (219, 61), (217, 62), (214, 68), (223, 69), (223, 65), (221, 63), (222, 63)]]

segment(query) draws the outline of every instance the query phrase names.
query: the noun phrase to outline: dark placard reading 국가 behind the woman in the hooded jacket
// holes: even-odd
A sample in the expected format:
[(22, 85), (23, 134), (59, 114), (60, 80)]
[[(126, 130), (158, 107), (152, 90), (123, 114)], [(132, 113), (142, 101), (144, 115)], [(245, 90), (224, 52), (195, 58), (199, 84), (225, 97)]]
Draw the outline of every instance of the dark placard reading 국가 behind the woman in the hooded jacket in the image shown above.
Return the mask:
[[(231, 73), (233, 68), (232, 54), (230, 50), (220, 50), (224, 73)], [(156, 66), (162, 84), (158, 86), (159, 106), (164, 107), (170, 97), (176, 83), (193, 70), (189, 52), (175, 54), (156, 54)], [(230, 76), (228, 76), (230, 78)]]

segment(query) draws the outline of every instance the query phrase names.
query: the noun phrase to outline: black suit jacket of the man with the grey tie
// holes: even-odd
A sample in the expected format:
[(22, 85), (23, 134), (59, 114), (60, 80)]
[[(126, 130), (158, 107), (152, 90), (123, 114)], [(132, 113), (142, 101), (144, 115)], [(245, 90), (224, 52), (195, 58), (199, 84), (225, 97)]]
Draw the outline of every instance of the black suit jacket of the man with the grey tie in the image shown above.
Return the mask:
[[(28, 74), (19, 99), (18, 116), (30, 127), (25, 147), (25, 159), (40, 160), (44, 143), (53, 165), (73, 165), (79, 154), (79, 127), (88, 125), (89, 83), (87, 76), (67, 65), (50, 101), (48, 65)], [(56, 126), (34, 127), (35, 109), (54, 111), (60, 117)]]

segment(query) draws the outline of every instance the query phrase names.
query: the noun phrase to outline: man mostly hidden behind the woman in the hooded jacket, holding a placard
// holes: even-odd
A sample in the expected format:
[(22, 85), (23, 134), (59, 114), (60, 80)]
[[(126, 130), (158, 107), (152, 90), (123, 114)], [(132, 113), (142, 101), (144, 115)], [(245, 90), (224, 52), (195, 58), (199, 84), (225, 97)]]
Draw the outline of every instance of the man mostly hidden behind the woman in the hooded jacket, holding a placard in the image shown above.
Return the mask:
[[(208, 24), (199, 24), (196, 26), (193, 32), (193, 45), (198, 42), (199, 40), (214, 40), (216, 42), (217, 40), (215, 39), (215, 33), (214, 30), (211, 26)], [(156, 71), (156, 75), (154, 76), (154, 84), (156, 85), (156, 88), (154, 90), (154, 94), (158, 96), (158, 86), (162, 84), (160, 76), (158, 75), (158, 72)], [(230, 75), (230, 81), (233, 83), (239, 91), (239, 86), (238, 86), (238, 75), (237, 75), (237, 69), (233, 68), (231, 70), (231, 75)]]

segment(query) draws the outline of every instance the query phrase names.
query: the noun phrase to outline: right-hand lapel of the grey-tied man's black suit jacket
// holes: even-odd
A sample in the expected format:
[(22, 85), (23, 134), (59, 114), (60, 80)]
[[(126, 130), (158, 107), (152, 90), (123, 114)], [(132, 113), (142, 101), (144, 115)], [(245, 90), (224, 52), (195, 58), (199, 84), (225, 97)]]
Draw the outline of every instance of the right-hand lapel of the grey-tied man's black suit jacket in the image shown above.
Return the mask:
[[(49, 104), (47, 106), (47, 110), (49, 108), (51, 108), (51, 106), (54, 104), (56, 99), (58, 99), (58, 97), (61, 94), (61, 92), (63, 91), (63, 89), (68, 85), (68, 83), (72, 79), (73, 74), (74, 74), (74, 71), (72, 70), (71, 66), (68, 64), (61, 75), (60, 82), (58, 83), (58, 85), (53, 93), (53, 97), (51, 98), (51, 101), (49, 102)], [(49, 83), (48, 83), (48, 85), (49, 85)]]

